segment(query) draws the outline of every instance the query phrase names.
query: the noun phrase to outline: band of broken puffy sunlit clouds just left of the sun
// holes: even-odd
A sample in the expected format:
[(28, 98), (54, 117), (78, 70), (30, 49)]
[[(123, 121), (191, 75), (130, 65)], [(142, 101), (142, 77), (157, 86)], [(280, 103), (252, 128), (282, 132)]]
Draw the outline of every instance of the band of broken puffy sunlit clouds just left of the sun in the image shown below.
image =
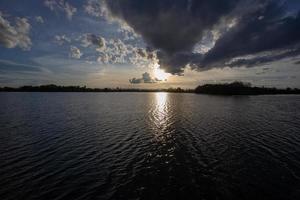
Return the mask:
[[(149, 67), (149, 65), (157, 63), (156, 52), (151, 49), (135, 47), (129, 41), (106, 39), (101, 35), (93, 33), (84, 33), (72, 39), (64, 34), (56, 35), (54, 42), (58, 45), (73, 44), (75, 42), (75, 46), (80, 45), (84, 48), (95, 48), (96, 59), (94, 54), (85, 58), (89, 61), (95, 59), (95, 61), (101, 64), (132, 64), (139, 67)], [(75, 51), (74, 48), (73, 50)], [(78, 56), (71, 55), (73, 54), (70, 53), (70, 57), (78, 58)]]

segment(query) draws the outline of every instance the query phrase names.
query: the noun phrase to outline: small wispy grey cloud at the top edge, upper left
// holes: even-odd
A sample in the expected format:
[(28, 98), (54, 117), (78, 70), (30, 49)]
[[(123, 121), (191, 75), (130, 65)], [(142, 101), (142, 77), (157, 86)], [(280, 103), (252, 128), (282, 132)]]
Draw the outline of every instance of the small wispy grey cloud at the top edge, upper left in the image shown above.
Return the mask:
[(73, 15), (77, 12), (77, 8), (65, 0), (45, 0), (44, 5), (51, 11), (64, 12), (68, 19), (72, 19)]

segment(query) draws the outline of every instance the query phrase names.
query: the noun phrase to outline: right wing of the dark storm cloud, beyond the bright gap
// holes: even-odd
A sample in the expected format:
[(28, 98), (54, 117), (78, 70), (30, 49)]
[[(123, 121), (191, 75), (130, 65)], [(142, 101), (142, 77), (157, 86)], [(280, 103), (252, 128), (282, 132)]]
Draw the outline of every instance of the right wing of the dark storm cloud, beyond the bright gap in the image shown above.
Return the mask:
[[(295, 48), (295, 44), (300, 42), (300, 14), (285, 16), (283, 8), (282, 4), (273, 1), (262, 9), (244, 16), (238, 26), (216, 42), (214, 48), (205, 55), (202, 64), (228, 61), (236, 56), (265, 51)], [(299, 50), (274, 58), (284, 58), (295, 53), (299, 53)], [(274, 58), (269, 57), (270, 61), (276, 60)], [(266, 59), (266, 62), (269, 59)]]

